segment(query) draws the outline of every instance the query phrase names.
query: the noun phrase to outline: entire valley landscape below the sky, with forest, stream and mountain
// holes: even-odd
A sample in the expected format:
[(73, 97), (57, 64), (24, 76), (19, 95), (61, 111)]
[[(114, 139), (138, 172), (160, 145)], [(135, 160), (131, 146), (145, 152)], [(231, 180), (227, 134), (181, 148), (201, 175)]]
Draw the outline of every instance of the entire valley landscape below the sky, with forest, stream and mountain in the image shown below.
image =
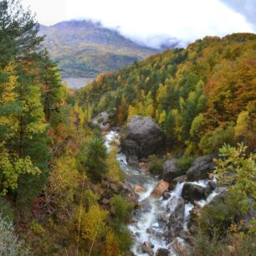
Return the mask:
[(254, 256), (256, 34), (243, 31), (151, 49), (1, 1), (0, 255)]

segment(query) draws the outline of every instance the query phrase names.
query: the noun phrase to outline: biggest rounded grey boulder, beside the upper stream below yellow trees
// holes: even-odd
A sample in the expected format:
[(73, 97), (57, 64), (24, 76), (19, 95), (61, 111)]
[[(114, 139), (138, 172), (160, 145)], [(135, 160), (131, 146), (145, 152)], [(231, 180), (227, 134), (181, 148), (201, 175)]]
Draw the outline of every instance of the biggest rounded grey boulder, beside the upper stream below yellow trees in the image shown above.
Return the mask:
[(126, 156), (150, 156), (164, 146), (165, 136), (151, 117), (135, 115), (127, 124), (121, 138)]

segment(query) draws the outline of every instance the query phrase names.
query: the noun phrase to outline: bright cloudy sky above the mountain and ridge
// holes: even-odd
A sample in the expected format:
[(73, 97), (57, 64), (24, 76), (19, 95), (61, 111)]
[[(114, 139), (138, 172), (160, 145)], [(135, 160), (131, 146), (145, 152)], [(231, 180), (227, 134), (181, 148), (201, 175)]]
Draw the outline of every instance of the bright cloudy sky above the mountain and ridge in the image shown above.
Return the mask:
[(90, 19), (139, 44), (256, 32), (256, 0), (22, 0), (39, 23)]

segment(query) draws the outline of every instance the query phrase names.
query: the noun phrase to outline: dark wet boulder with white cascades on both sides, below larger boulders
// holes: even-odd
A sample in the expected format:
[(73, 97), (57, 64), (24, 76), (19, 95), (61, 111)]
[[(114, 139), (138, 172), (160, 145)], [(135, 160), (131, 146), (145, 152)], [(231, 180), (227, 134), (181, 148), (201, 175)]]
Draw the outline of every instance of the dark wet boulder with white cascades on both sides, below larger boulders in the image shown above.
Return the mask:
[(182, 197), (188, 202), (194, 202), (201, 199), (206, 199), (211, 193), (209, 187), (201, 187), (193, 183), (185, 183), (182, 189)]

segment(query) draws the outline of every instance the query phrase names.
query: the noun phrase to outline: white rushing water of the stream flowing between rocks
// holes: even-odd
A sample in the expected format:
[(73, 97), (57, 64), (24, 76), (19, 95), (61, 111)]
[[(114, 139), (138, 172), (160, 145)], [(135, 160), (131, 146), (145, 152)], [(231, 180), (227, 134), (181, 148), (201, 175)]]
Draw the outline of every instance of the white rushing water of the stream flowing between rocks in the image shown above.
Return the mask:
[[(113, 141), (117, 136), (119, 136), (119, 133), (116, 131), (110, 131), (105, 136), (105, 146), (107, 147), (108, 151), (110, 151), (111, 141)], [(156, 199), (151, 197), (151, 192), (153, 192), (156, 184), (159, 182), (159, 179), (153, 177), (151, 174), (141, 173), (138, 168), (130, 166), (126, 161), (125, 155), (122, 153), (117, 154), (116, 159), (120, 164), (120, 169), (125, 173), (125, 182), (130, 183), (131, 187), (139, 185), (146, 189), (146, 192), (138, 193), (138, 201), (141, 207), (140, 209), (136, 209), (134, 211), (134, 221), (128, 225), (128, 228), (131, 230), (131, 233), (135, 238), (135, 243), (131, 251), (137, 256), (145, 256), (146, 253), (141, 252), (141, 244), (146, 242), (153, 245), (152, 250), (154, 253), (156, 253), (158, 248), (167, 248), (171, 252), (171, 255), (177, 255), (175, 249), (173, 248), (173, 242), (167, 243), (163, 235), (166, 222), (162, 221), (162, 218), (166, 219), (166, 221), (169, 219), (170, 215), (177, 206), (179, 198), (182, 197), (182, 188), (185, 182), (177, 183), (174, 190), (168, 191), (170, 197), (167, 200), (163, 200), (162, 197)], [(209, 180), (190, 183), (207, 187), (207, 182), (209, 182)], [(203, 207), (207, 203), (211, 202), (216, 195), (218, 195), (218, 192), (213, 191), (207, 197), (207, 200), (201, 200), (198, 203), (201, 207)], [(185, 203), (183, 213), (183, 230), (185, 231), (187, 230), (190, 211), (193, 207), (194, 206), (192, 203)], [(177, 238), (177, 241), (181, 244), (185, 243), (182, 238)]]

